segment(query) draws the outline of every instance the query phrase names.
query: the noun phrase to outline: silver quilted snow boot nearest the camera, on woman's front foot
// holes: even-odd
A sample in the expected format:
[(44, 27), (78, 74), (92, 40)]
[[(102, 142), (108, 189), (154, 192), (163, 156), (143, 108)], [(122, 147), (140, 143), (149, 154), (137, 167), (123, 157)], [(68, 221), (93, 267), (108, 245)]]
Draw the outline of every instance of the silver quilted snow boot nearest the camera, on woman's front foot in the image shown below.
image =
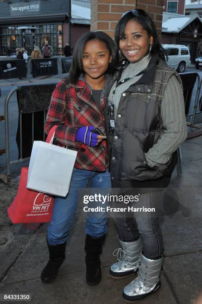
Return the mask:
[(152, 260), (140, 255), (138, 277), (123, 291), (126, 302), (138, 302), (159, 290), (162, 263), (163, 258)]

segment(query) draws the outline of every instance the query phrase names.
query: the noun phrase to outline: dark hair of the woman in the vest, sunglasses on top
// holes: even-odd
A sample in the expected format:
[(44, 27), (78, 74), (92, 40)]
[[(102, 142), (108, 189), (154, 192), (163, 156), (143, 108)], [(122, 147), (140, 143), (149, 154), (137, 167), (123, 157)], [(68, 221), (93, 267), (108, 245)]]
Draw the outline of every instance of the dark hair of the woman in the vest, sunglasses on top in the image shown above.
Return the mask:
[(115, 29), (115, 42), (119, 49), (119, 40), (125, 36), (125, 28), (129, 20), (134, 19), (138, 22), (144, 30), (147, 31), (148, 37), (153, 37), (153, 44), (150, 51), (150, 56), (158, 54), (158, 56), (165, 61), (165, 52), (161, 46), (158, 38), (158, 32), (154, 22), (149, 15), (143, 9), (134, 9), (125, 13), (125, 15), (119, 20)]

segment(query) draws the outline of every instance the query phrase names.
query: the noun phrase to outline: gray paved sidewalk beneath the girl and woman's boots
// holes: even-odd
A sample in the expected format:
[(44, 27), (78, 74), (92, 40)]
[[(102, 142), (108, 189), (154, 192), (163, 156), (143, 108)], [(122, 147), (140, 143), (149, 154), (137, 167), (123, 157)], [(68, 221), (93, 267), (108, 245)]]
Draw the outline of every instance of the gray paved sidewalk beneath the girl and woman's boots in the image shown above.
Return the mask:
[[(183, 175), (178, 177), (176, 171), (173, 173), (170, 193), (175, 198), (177, 195), (180, 203), (171, 199), (165, 206), (162, 287), (142, 304), (190, 304), (202, 292), (202, 137), (183, 143), (182, 156)], [(113, 280), (109, 275), (109, 267), (116, 261), (112, 252), (119, 247), (112, 219), (101, 256), (102, 282), (95, 287), (85, 282), (82, 204), (58, 278), (50, 285), (41, 283), (40, 273), (48, 260), (47, 224), (33, 230), (11, 225), (6, 208), (14, 198), (17, 183), (18, 178), (10, 185), (0, 183), (0, 293), (31, 294), (33, 304), (125, 303), (122, 290), (133, 277)]]

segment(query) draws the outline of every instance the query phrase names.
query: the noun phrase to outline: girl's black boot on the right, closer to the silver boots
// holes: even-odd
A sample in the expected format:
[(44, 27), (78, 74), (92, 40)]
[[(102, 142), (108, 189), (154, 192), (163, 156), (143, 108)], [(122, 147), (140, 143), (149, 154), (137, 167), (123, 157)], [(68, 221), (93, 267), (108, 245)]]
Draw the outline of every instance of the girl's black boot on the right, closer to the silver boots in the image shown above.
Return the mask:
[(105, 241), (106, 234), (100, 237), (93, 237), (86, 234), (85, 238), (85, 263), (86, 263), (86, 282), (89, 285), (97, 285), (101, 281), (100, 253)]

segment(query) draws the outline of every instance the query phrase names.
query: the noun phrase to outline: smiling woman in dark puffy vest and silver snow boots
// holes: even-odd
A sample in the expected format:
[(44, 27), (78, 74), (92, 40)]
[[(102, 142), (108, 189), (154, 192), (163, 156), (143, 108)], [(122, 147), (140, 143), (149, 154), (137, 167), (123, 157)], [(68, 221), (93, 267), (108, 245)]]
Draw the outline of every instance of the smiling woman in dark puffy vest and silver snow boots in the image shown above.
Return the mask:
[[(108, 140), (111, 181), (115, 188), (138, 188), (140, 207), (161, 203), (176, 164), (176, 150), (186, 139), (186, 121), (180, 76), (165, 63), (156, 27), (141, 9), (123, 14), (115, 30), (120, 57), (119, 80), (108, 97)], [(152, 188), (152, 190), (143, 189)], [(163, 239), (159, 218), (137, 212), (115, 218), (121, 251), (110, 274), (137, 278), (123, 292), (136, 302), (160, 288)]]

